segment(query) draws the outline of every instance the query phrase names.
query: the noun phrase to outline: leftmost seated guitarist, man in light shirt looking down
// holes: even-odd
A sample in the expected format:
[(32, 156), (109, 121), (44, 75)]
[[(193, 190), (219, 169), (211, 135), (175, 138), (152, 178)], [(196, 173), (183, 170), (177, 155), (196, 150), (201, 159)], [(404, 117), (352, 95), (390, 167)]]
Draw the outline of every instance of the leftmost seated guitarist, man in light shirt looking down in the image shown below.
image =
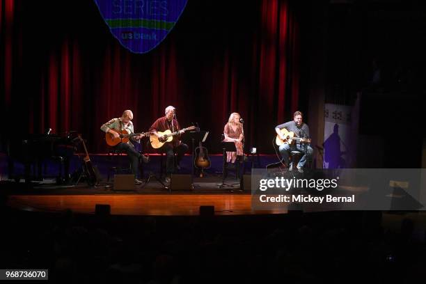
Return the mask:
[[(123, 112), (123, 115), (121, 118), (113, 118), (109, 120), (109, 122), (104, 123), (101, 126), (101, 130), (106, 133), (113, 134), (114, 138), (120, 137), (120, 134), (118, 132), (121, 132), (123, 130), (126, 130), (129, 134), (134, 133), (134, 126), (132, 123), (133, 119), (133, 113), (131, 110), (127, 109)], [(141, 139), (141, 135), (134, 136), (132, 138), (134, 141), (139, 142)], [(139, 175), (139, 159), (143, 159), (143, 162), (148, 163), (148, 157), (145, 157), (144, 155), (141, 155), (138, 151), (134, 149), (134, 145), (131, 141), (128, 141), (127, 143), (119, 143), (118, 145), (114, 146), (116, 150), (122, 150), (127, 153), (127, 157), (129, 157), (130, 165), (132, 168), (132, 173), (135, 176), (135, 183), (141, 184), (142, 182), (138, 180)]]

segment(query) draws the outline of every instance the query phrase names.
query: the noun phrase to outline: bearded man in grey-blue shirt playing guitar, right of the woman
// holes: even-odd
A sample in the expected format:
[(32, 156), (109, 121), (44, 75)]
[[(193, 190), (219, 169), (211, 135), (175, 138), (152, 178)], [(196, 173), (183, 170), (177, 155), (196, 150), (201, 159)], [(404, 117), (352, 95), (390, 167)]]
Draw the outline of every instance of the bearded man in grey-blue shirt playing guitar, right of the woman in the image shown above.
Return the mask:
[[(309, 135), (309, 127), (306, 123), (303, 123), (303, 114), (300, 111), (296, 111), (294, 113), (292, 121), (289, 121), (287, 123), (283, 123), (281, 125), (277, 125), (275, 127), (276, 134), (280, 136), (282, 140), (285, 140), (285, 137), (281, 133), (281, 129), (285, 128), (288, 132), (294, 132), (295, 136), (299, 138), (310, 138)], [(285, 165), (290, 166), (288, 162), (288, 156), (290, 155), (290, 151), (292, 150), (299, 150), (303, 153), (303, 156), (301, 157), (299, 164), (297, 164), (297, 168), (303, 168), (306, 164), (306, 160), (310, 157), (312, 157), (313, 149), (308, 144), (304, 143), (294, 143), (292, 145), (289, 145), (288, 143), (284, 143), (280, 146), (280, 153), (283, 157), (283, 161)]]

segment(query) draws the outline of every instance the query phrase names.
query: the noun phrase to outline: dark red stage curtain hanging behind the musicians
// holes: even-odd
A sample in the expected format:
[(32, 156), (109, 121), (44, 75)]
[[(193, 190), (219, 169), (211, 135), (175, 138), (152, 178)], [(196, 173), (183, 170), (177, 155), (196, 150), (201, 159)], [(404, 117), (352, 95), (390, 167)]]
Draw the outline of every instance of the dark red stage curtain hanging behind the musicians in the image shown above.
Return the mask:
[(143, 132), (173, 105), (182, 127), (210, 130), (212, 152), (234, 111), (246, 122), (246, 148), (273, 152), (275, 125), (303, 97), (292, 1), (189, 0), (148, 54), (122, 47), (94, 1), (0, 3), (2, 116), (22, 133), (77, 130), (90, 152), (105, 152), (102, 123), (132, 109)]

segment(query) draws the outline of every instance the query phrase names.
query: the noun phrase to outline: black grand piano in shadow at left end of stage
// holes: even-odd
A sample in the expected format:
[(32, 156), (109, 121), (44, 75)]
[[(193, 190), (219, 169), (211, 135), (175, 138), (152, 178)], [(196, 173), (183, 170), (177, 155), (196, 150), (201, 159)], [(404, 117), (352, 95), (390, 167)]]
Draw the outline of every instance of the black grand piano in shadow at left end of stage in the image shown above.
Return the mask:
[[(7, 141), (8, 178), (29, 183), (33, 180), (52, 178), (47, 173), (47, 164), (58, 166), (57, 182), (70, 179), (70, 158), (77, 150), (80, 139), (77, 132), (63, 134), (26, 134), (15, 136)], [(15, 164), (24, 165), (24, 174), (15, 171)]]

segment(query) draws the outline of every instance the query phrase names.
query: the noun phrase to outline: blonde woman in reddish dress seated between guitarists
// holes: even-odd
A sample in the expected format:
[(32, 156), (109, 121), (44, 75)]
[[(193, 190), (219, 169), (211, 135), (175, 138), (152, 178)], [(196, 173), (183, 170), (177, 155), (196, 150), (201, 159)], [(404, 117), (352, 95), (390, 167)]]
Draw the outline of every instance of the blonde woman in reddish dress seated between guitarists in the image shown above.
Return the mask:
[(237, 156), (243, 155), (242, 140), (244, 139), (242, 124), (239, 122), (239, 113), (231, 113), (223, 128), (223, 134), (225, 136), (225, 142), (235, 142), (235, 148), (237, 152), (226, 152), (226, 161), (228, 163), (235, 163)]

